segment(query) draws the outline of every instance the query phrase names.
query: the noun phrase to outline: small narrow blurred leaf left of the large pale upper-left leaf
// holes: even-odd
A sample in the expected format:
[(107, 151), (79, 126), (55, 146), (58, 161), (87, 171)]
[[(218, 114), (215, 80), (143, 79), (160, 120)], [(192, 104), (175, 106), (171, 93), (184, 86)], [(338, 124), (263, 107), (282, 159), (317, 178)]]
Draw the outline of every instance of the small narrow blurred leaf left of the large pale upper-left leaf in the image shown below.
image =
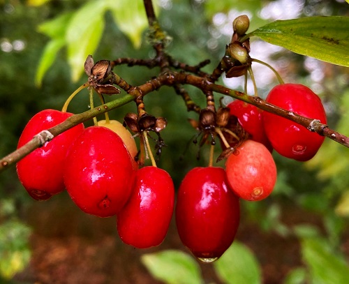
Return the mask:
[(59, 50), (61, 49), (61, 47), (65, 45), (65, 43), (66, 40), (64, 38), (50, 40), (50, 42), (47, 43), (38, 63), (38, 68), (36, 70), (36, 86), (41, 86), (45, 73), (52, 66), (54, 60), (56, 59), (57, 52), (59, 52)]

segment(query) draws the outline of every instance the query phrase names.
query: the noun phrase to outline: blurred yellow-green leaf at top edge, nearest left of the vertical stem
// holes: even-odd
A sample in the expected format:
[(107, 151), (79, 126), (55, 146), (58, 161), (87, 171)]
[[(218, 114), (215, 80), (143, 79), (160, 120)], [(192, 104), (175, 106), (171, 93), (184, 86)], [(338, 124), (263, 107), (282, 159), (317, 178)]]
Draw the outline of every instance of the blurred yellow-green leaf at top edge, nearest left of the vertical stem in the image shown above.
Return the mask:
[[(156, 8), (158, 7), (156, 2), (153, 1), (155, 12), (157, 12)], [(142, 32), (148, 27), (143, 1), (121, 0), (117, 2), (117, 5), (113, 1), (109, 8), (119, 29), (128, 36), (135, 48), (140, 48)]]

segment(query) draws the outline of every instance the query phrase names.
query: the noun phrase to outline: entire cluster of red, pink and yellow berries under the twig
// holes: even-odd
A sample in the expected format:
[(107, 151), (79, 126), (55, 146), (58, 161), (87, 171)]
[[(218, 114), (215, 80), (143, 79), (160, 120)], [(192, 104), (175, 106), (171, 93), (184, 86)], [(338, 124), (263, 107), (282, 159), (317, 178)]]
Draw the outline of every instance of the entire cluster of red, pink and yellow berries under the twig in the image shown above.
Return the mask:
[[(326, 123), (320, 98), (302, 85), (278, 85), (266, 100)], [(273, 149), (304, 161), (316, 154), (324, 140), (295, 122), (240, 100), (228, 107), (250, 139), (228, 156), (225, 169), (193, 168), (177, 193), (179, 237), (204, 262), (216, 260), (232, 244), (239, 226), (239, 199), (257, 201), (272, 193), (276, 182)], [(24, 128), (18, 147), (71, 115), (57, 110), (39, 112)], [(47, 200), (66, 188), (82, 211), (117, 216), (117, 230), (126, 244), (148, 248), (161, 244), (168, 231), (174, 185), (165, 170), (139, 169), (136, 154), (134, 139), (122, 124), (99, 121), (98, 126), (80, 124), (58, 135), (20, 160), (17, 172), (34, 199)]]

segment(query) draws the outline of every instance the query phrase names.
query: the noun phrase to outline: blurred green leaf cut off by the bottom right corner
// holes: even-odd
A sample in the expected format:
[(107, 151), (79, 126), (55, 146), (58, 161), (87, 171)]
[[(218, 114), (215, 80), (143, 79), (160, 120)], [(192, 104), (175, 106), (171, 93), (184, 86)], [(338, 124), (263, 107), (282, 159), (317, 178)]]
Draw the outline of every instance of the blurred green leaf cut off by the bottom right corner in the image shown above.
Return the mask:
[(303, 239), (302, 257), (309, 267), (311, 283), (348, 283), (349, 266), (322, 239)]

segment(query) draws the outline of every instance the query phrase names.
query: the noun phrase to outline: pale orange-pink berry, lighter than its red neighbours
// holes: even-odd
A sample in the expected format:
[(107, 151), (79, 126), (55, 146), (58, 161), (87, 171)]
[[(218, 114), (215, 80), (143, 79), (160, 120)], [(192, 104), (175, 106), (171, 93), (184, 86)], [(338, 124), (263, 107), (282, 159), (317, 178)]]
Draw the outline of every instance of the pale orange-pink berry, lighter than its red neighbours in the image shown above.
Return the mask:
[(267, 197), (276, 182), (276, 165), (272, 154), (261, 143), (246, 140), (225, 162), (228, 184), (244, 200)]

